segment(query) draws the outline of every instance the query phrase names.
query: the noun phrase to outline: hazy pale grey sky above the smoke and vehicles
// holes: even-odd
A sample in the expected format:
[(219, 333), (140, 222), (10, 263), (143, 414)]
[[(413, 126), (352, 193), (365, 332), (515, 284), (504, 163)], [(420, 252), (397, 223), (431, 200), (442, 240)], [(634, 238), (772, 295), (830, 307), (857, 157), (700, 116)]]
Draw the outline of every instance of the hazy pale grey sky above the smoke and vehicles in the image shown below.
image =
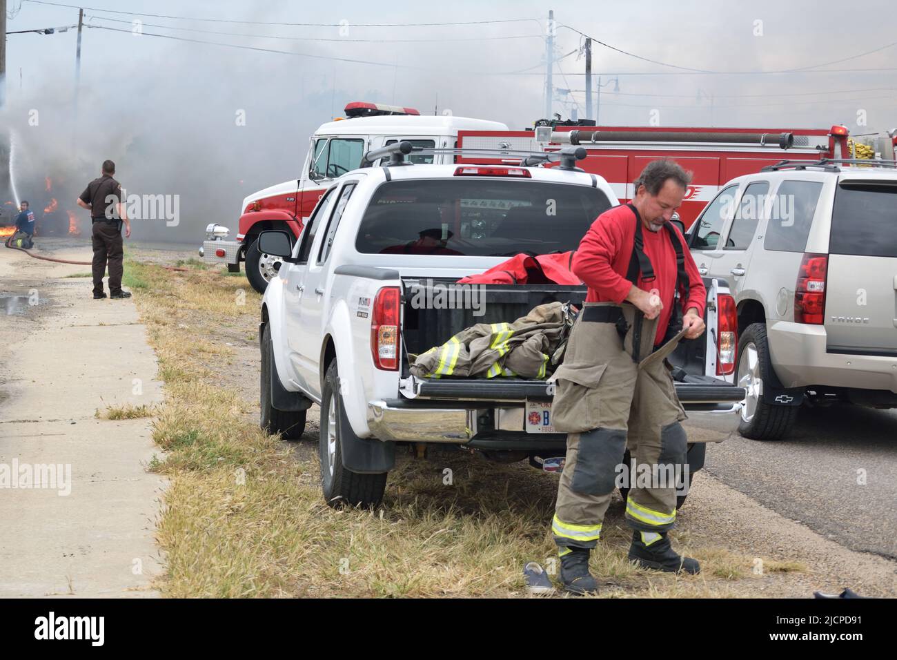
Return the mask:
[[(28, 112), (39, 110), (41, 131), (25, 132), (30, 151), (38, 152), (30, 154), (32, 160), (67, 161), (82, 176), (83, 159), (92, 163), (100, 153), (117, 154), (119, 160), (133, 161), (119, 167), (132, 188), (135, 179), (143, 188), (171, 188), (172, 180), (178, 181), (185, 189), (177, 191), (194, 198), (192, 215), (201, 208), (209, 215), (233, 215), (239, 200), (252, 190), (298, 177), (309, 134), (340, 115), (347, 101), (394, 102), (424, 113), (448, 109), (455, 115), (503, 121), (511, 128), (531, 127), (544, 116), (549, 9), (557, 22), (556, 57), (581, 46), (580, 35), (564, 27), (569, 25), (608, 46), (657, 62), (593, 44), (596, 81), (600, 75), (606, 84), (600, 95), (599, 119), (604, 125), (647, 125), (656, 111), (665, 126), (827, 128), (844, 123), (853, 134), (897, 126), (897, 71), (888, 70), (895, 66), (897, 53), (893, 3), (864, 2), (861, 12), (827, 0), (762, 0), (749, 8), (743, 2), (710, 0), (90, 4), (95, 10), (85, 10), (88, 25), (123, 32), (83, 32), (77, 126), (71, 126), (74, 30), (8, 36), (4, 120), (22, 132), (28, 128)], [(20, 0), (7, 0), (7, 7), (14, 13), (7, 31), (77, 22), (75, 8)], [(96, 11), (99, 8), (121, 13)], [(523, 20), (448, 24), (513, 19)], [(143, 22), (141, 36), (133, 34), (135, 20)], [(427, 22), (436, 24), (361, 26)], [(493, 39), (476, 39), (483, 37)], [(509, 39), (494, 39), (498, 37)], [(585, 116), (585, 94), (580, 91), (585, 89), (584, 68), (584, 58), (577, 53), (556, 63), (554, 87), (573, 91), (556, 92), (553, 111), (566, 117), (578, 104), (579, 117)], [(794, 69), (803, 70), (739, 73)], [(235, 125), (239, 110), (245, 111), (246, 126)], [(867, 125), (858, 126), (858, 117), (865, 117)], [(144, 161), (142, 166), (137, 160)], [(73, 180), (77, 176), (73, 173)], [(205, 196), (214, 202), (204, 206)], [(205, 224), (206, 217), (200, 220), (196, 223)]]

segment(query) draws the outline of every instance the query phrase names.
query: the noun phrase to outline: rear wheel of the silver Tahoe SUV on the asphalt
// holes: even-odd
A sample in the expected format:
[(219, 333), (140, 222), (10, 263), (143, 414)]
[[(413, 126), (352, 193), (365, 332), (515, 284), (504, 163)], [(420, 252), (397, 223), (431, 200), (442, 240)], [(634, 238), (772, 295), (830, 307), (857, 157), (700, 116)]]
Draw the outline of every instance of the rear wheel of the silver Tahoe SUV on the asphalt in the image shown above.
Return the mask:
[(758, 380), (774, 380), (765, 323), (747, 326), (739, 339), (736, 385), (745, 387), (747, 399), (741, 409), (738, 433), (752, 440), (779, 440), (794, 424), (799, 407), (767, 403), (759, 392)]

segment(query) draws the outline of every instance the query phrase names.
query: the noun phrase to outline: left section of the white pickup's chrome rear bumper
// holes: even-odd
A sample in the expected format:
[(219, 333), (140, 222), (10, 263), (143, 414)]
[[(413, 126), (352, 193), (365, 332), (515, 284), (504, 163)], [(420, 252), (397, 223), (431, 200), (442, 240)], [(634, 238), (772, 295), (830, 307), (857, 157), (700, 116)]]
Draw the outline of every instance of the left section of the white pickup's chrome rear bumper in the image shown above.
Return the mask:
[(476, 434), (476, 410), (399, 408), (369, 401), (368, 427), (379, 440), (464, 444)]

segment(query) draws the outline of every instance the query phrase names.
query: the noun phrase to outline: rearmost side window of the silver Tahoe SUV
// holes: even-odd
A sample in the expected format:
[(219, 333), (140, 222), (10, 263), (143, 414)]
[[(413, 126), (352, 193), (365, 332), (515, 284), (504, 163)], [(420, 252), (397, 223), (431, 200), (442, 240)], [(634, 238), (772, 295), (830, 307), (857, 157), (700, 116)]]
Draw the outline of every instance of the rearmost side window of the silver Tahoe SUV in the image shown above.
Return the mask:
[(810, 235), (816, 202), (823, 184), (818, 181), (782, 181), (767, 209), (769, 221), (763, 247), (779, 252), (803, 252)]

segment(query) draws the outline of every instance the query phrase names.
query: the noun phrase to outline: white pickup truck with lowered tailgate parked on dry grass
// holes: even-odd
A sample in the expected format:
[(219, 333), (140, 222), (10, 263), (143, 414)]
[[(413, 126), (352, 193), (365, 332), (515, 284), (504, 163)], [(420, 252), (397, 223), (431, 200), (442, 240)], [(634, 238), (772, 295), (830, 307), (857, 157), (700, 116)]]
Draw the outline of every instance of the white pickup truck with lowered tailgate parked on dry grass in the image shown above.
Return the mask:
[[(411, 150), (399, 143), (366, 154), (368, 163), (389, 161), (335, 180), (295, 244), (289, 232), (259, 237), (263, 251), (283, 257), (261, 309), (261, 425), (298, 439), (307, 409), (321, 407), (321, 484), (331, 506), (378, 505), (399, 444), (415, 445), (418, 455), (428, 444), (451, 444), (534, 466), (565, 452), (566, 436), (551, 427), (553, 384), (419, 378), (407, 356), (538, 304), (581, 304), (585, 286), (477, 285), (477, 304), (462, 308), (421, 304), (440, 296), (419, 294), (520, 252), (575, 250), (595, 217), (617, 204), (614, 193), (577, 170), (572, 156), (550, 168), (405, 163)], [(721, 309), (734, 315), (734, 304), (718, 304), (724, 281), (706, 282), (708, 332), (673, 356), (684, 367), (676, 391), (686, 409), (734, 409), (745, 390), (716, 377), (735, 360), (734, 342), (720, 342), (719, 333), (736, 320), (717, 318)], [(533, 409), (541, 414), (525, 414)], [(703, 448), (689, 452), (692, 471)]]

